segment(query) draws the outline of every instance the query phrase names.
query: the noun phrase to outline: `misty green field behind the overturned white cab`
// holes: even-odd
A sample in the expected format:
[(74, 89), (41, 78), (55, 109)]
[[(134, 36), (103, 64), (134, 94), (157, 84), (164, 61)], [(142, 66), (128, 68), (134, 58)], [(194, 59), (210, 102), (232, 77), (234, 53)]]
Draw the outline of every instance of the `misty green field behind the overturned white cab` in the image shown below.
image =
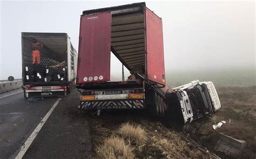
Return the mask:
[(221, 70), (166, 70), (166, 82), (171, 88), (199, 79), (212, 81), (216, 87), (256, 85), (255, 68)]

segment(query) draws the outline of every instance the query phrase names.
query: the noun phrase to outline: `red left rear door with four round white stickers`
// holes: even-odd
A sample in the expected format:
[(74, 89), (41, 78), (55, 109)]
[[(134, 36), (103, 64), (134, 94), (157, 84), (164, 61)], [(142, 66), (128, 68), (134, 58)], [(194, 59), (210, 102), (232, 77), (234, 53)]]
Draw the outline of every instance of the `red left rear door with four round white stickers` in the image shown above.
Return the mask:
[(110, 81), (110, 50), (111, 12), (82, 16), (77, 83)]

